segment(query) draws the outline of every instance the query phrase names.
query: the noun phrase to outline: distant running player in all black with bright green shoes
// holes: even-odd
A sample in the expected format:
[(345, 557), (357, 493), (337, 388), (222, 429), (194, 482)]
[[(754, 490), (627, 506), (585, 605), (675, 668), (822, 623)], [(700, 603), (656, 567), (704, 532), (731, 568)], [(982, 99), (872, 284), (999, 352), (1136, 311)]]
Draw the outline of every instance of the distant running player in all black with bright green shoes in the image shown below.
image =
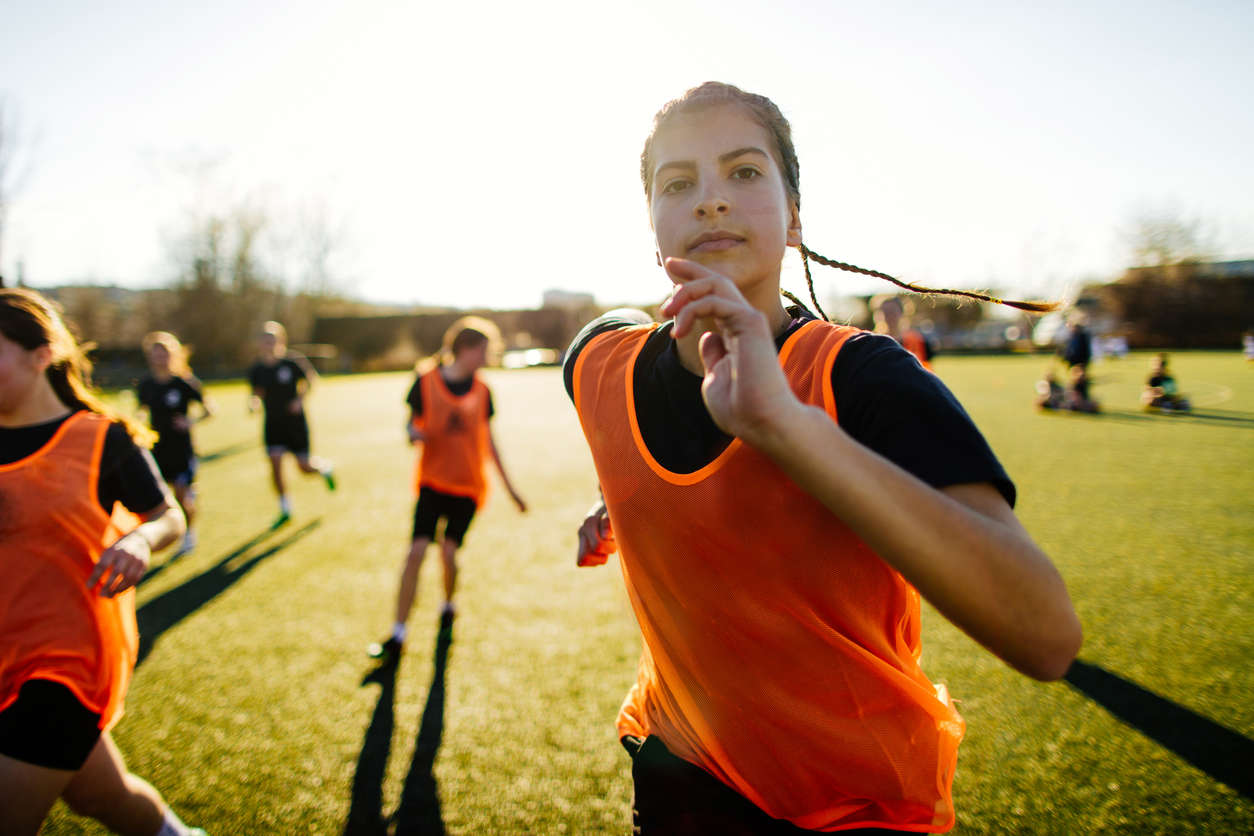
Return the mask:
[(296, 466), (306, 475), (317, 474), (326, 481), (327, 490), (335, 490), (335, 473), (331, 462), (310, 455), (310, 427), (305, 420), (305, 397), (310, 394), (317, 372), (297, 353), (287, 351), (287, 330), (278, 322), (267, 322), (261, 328), (260, 356), (248, 370), (252, 397), (248, 411), (265, 406), (266, 455), (270, 456), (270, 476), (278, 495), (278, 516), (272, 528), (283, 525), (292, 518), (292, 505), (283, 484), (283, 454), (296, 456)]

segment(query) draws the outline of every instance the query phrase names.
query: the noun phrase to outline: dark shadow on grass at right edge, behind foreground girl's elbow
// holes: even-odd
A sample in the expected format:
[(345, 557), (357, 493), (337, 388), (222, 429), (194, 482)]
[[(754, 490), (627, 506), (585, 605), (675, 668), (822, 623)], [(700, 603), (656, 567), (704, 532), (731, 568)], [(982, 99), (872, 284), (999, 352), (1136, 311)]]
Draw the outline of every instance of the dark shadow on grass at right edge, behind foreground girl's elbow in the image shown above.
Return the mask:
[(1117, 719), (1246, 798), (1254, 798), (1254, 741), (1105, 668), (1076, 659), (1066, 681)]

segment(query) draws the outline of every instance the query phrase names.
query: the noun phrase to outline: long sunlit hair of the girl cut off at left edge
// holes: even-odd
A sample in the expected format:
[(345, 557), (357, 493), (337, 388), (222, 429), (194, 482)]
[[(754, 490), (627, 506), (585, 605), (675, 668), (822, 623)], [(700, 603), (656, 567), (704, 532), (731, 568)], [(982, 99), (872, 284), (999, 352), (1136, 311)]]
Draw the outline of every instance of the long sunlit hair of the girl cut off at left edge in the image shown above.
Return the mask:
[(61, 404), (120, 421), (143, 446), (155, 440), (152, 430), (118, 415), (92, 391), (92, 361), (85, 355), (92, 346), (79, 345), (53, 302), (35, 291), (0, 288), (0, 333), (26, 351), (43, 346), (51, 350), (53, 361), (44, 374)]

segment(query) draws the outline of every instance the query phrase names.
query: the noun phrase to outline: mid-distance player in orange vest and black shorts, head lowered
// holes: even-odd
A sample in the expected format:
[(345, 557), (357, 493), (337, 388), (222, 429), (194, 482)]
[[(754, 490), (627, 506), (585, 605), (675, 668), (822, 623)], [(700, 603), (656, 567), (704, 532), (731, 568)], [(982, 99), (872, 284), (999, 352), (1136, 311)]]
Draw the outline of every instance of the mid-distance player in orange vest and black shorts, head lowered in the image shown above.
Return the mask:
[[(474, 316), (458, 320), (444, 333), (439, 365), (420, 363), (418, 379), (405, 399), (410, 409), (410, 420), (405, 425), (409, 441), (423, 445), (415, 479), (418, 503), (414, 506), (409, 554), (396, 592), (396, 622), (386, 640), (370, 645), (369, 653), (374, 658), (399, 658), (405, 643), (405, 622), (418, 594), (418, 573), (441, 519), (444, 607), (440, 609), (440, 627), (445, 630), (451, 628), (458, 549), (488, 495), (485, 470), (489, 457), (514, 505), (519, 511), (527, 510), (527, 503), (505, 474), (492, 436), (492, 392), (475, 374), (488, 362), (489, 347), (499, 342), (500, 332), (492, 322)], [(434, 367), (424, 371), (428, 366)]]

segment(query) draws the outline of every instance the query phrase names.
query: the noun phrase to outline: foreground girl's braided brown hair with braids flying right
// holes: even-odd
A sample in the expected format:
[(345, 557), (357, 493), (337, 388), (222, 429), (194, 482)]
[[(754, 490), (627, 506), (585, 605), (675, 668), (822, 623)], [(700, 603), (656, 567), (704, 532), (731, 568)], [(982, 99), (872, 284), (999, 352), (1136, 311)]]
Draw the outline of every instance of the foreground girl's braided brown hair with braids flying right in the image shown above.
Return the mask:
[[(706, 108), (714, 108), (722, 104), (739, 104), (745, 108), (745, 110), (749, 112), (749, 115), (775, 140), (772, 148), (775, 152), (775, 162), (779, 164), (780, 172), (784, 174), (784, 185), (788, 189), (788, 196), (800, 212), (801, 164), (796, 159), (796, 148), (793, 145), (793, 128), (789, 125), (788, 119), (784, 118), (784, 114), (775, 105), (775, 103), (765, 95), (746, 93), (737, 86), (724, 84), (722, 81), (706, 81), (700, 86), (687, 90), (680, 98), (663, 104), (662, 109), (653, 117), (653, 128), (650, 130), (648, 138), (645, 139), (645, 150), (641, 152), (640, 155), (640, 178), (645, 183), (645, 196), (650, 199), (653, 197), (653, 180), (651, 175), (653, 168), (653, 137), (657, 135), (658, 129), (662, 128), (662, 125), (665, 125), (671, 117), (685, 113), (696, 113), (705, 110)], [(1014, 300), (1001, 300), (996, 296), (979, 293), (977, 291), (954, 291), (939, 287), (923, 287), (922, 285), (903, 282), (889, 276), (888, 273), (882, 273), (878, 269), (856, 267), (843, 261), (835, 261), (834, 258), (820, 256), (804, 243), (799, 244), (798, 249), (801, 253), (801, 264), (805, 268), (805, 285), (810, 291), (810, 301), (814, 302), (814, 307), (824, 320), (828, 318), (828, 315), (819, 305), (819, 300), (814, 293), (814, 278), (810, 276), (811, 258), (820, 264), (826, 264), (828, 267), (834, 267), (836, 269), (861, 273), (863, 276), (872, 276), (874, 278), (883, 278), (884, 281), (892, 282), (898, 287), (904, 287), (914, 293), (944, 293), (947, 296), (963, 296), (966, 298), (978, 300), (981, 302), (996, 302), (997, 305), (1006, 305), (1008, 307), (1020, 308), (1021, 311), (1031, 311), (1033, 313), (1045, 313), (1058, 308), (1057, 302), (1018, 302)], [(781, 291), (781, 293), (793, 302), (800, 305), (800, 300), (788, 291)]]

